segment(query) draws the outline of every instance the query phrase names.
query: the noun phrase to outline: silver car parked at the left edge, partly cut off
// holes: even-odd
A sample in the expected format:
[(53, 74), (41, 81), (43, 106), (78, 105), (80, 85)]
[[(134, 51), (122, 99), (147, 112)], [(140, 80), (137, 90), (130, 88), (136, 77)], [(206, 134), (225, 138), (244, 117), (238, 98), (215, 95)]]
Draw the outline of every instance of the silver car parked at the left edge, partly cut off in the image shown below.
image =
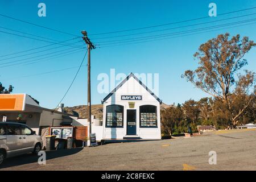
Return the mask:
[(42, 138), (27, 125), (16, 122), (0, 122), (0, 164), (6, 158), (42, 149)]

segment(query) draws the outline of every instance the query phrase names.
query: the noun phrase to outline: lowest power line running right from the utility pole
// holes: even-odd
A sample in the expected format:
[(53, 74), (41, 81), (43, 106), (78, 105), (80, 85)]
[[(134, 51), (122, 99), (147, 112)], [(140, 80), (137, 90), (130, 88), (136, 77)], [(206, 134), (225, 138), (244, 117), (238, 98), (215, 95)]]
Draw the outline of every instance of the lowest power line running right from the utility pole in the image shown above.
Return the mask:
[(255, 24), (255, 23), (247, 23), (247, 24), (242, 24), (242, 25), (233, 26), (233, 27), (219, 28), (219, 29), (216, 29), (216, 30), (210, 30), (210, 31), (199, 32), (199, 33), (196, 33), (196, 34), (187, 34), (187, 35), (181, 35), (181, 36), (174, 36), (174, 37), (171, 37), (171, 38), (162, 38), (162, 39), (155, 39), (155, 40), (146, 40), (146, 41), (133, 42), (133, 43), (119, 43), (119, 44), (115, 44), (115, 45), (112, 45), (112, 46), (104, 46), (104, 47), (100, 47), (100, 48), (117, 47), (117, 46), (126, 46), (126, 45), (131, 45), (131, 44), (134, 45), (134, 44), (139, 44), (139, 43), (155, 42), (155, 41), (158, 41), (158, 40), (167, 40), (167, 39), (181, 38), (181, 37), (184, 37), (184, 36), (198, 35), (198, 34), (203, 34), (203, 33), (207, 33), (207, 32), (213, 32), (213, 31), (217, 31), (217, 30), (225, 30), (225, 29), (227, 29), (227, 28), (241, 27), (241, 26), (246, 26), (246, 25), (251, 25), (251, 24)]

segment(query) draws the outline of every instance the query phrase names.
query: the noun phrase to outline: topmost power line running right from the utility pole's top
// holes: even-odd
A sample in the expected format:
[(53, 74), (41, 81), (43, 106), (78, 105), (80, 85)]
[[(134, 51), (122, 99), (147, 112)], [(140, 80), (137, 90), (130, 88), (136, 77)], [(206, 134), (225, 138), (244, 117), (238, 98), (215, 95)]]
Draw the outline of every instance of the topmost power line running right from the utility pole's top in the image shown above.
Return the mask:
[[(237, 10), (237, 11), (230, 11), (230, 12), (228, 12), (228, 13), (218, 14), (218, 16), (222, 16), (222, 15), (226, 15), (226, 14), (232, 14), (232, 13), (238, 13), (238, 12), (241, 12), (241, 11), (247, 11), (247, 10), (252, 10), (252, 9), (256, 9), (256, 7), (251, 7), (251, 8), (248, 8), (248, 9), (242, 9), (242, 10)], [(167, 25), (170, 25), (170, 24), (191, 22), (191, 21), (194, 21), (194, 20), (200, 20), (200, 19), (205, 19), (205, 18), (210, 18), (210, 16), (204, 16), (204, 17), (201, 17), (201, 18), (194, 18), (194, 19), (188, 19), (188, 20), (181, 20), (181, 21), (179, 21), (179, 22), (172, 22), (172, 23), (166, 23), (166, 24), (158, 24), (158, 25), (148, 26), (148, 27), (131, 28), (131, 29), (126, 29), (126, 30), (119, 30), (119, 31), (112, 31), (112, 32), (103, 32), (103, 33), (90, 34), (90, 35), (115, 34), (115, 33), (119, 33), (119, 32), (127, 32), (127, 31), (134, 31), (134, 30), (143, 30), (143, 29), (146, 29), (146, 28), (162, 27), (162, 26), (167, 26)]]

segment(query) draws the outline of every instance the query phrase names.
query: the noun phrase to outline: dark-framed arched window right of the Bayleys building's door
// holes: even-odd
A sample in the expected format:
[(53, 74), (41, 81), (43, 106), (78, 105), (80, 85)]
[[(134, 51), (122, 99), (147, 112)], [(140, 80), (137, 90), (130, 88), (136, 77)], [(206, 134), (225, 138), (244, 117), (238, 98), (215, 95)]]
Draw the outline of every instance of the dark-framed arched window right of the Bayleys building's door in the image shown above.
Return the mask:
[(156, 106), (143, 105), (139, 107), (140, 127), (158, 127)]

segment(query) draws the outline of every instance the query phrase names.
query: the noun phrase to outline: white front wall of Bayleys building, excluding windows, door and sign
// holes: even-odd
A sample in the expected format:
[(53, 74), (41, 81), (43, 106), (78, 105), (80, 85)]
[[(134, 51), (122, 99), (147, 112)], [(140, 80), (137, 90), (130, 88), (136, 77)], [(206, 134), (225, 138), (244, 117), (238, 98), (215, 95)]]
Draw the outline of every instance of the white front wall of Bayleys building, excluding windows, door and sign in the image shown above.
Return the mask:
[[(142, 100), (127, 101), (121, 100), (121, 96), (142, 96)], [(134, 108), (129, 107), (129, 102), (135, 102)], [(109, 128), (106, 126), (106, 106), (108, 105), (122, 105), (123, 108), (123, 127)], [(156, 106), (157, 114), (157, 128), (140, 128), (139, 121), (139, 106), (154, 105)], [(104, 102), (103, 115), (103, 138), (105, 139), (123, 139), (127, 134), (127, 109), (136, 110), (136, 126), (137, 135), (142, 139), (161, 139), (160, 131), (160, 103), (156, 100), (134, 77), (130, 77), (111, 97)]]

